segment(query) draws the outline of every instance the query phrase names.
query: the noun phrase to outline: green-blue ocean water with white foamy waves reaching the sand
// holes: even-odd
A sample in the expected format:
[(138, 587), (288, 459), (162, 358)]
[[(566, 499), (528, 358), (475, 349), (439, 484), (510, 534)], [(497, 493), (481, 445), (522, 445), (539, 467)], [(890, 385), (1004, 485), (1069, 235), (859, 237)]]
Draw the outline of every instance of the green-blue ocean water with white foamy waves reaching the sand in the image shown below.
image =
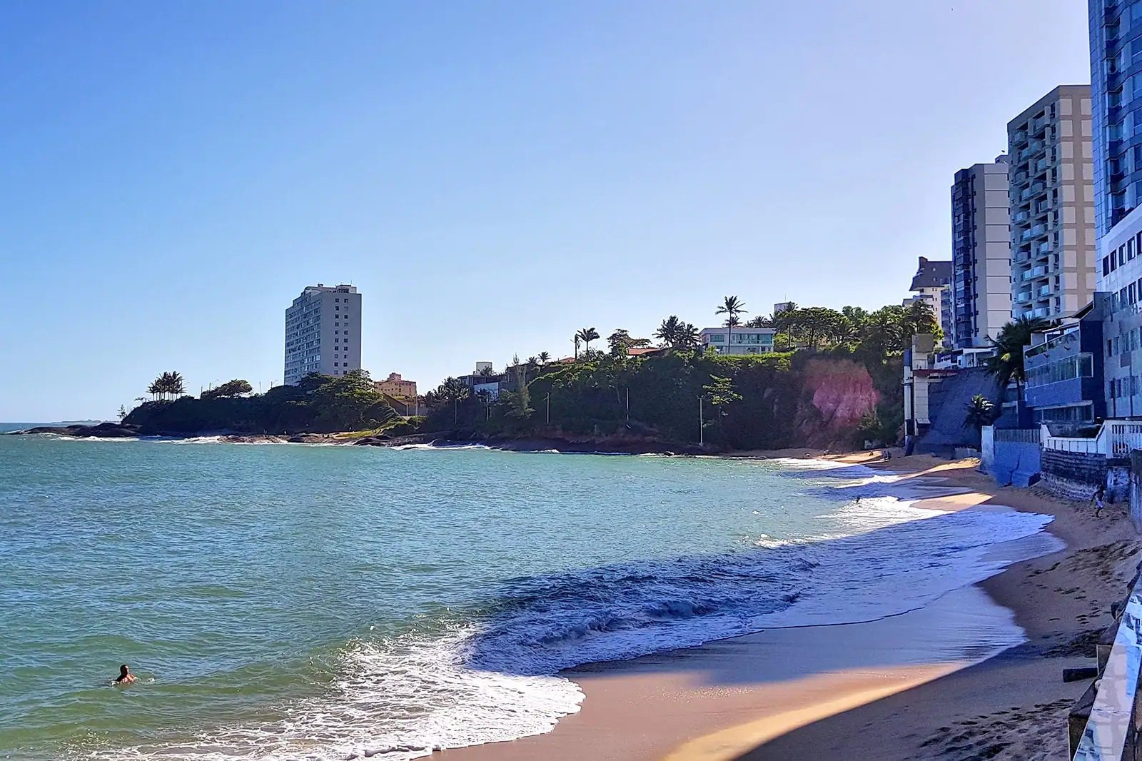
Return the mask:
[[(582, 700), (562, 668), (900, 614), (1049, 521), (912, 504), (938, 490), (786, 460), (0, 436), (0, 758), (404, 761), (548, 731)], [(137, 684), (108, 686), (120, 663)]]

